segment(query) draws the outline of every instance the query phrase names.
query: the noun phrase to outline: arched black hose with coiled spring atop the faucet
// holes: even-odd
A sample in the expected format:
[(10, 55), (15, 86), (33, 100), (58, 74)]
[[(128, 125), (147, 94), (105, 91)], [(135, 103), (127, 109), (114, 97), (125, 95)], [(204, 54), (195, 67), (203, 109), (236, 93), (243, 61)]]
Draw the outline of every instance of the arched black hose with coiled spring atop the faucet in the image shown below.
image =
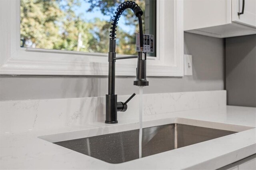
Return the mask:
[(133, 1), (125, 1), (122, 4), (118, 6), (116, 9), (116, 12), (114, 15), (114, 19), (112, 19), (113, 23), (111, 24), (111, 31), (110, 31), (110, 39), (109, 39), (109, 52), (116, 52), (116, 25), (118, 24), (119, 18), (122, 15), (122, 12), (124, 10), (130, 8), (136, 17), (138, 17), (139, 20), (139, 28), (140, 28), (140, 48), (143, 49), (143, 30), (142, 30), (142, 18), (141, 16), (143, 15), (143, 11), (141, 8), (138, 6)]

